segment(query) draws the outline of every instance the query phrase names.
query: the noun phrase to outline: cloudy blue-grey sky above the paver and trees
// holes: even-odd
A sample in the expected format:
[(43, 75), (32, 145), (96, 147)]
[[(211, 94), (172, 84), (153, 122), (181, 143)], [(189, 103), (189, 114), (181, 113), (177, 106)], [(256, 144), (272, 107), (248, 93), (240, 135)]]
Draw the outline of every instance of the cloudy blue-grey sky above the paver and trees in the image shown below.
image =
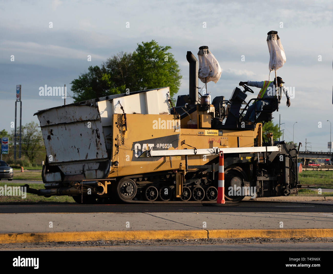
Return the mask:
[[(295, 142), (305, 146), (307, 138), (313, 151), (328, 151), (327, 120), (333, 123), (332, 10), (332, 1), (318, 0), (0, 1), (0, 130), (11, 130), (17, 84), (22, 85), (22, 124), (38, 122), (35, 112), (63, 104), (61, 98), (40, 97), (39, 87), (70, 87), (89, 66), (120, 51), (133, 52), (137, 43), (152, 39), (172, 47), (183, 75), (178, 95), (188, 94), (186, 51), (196, 55), (207, 45), (223, 70), (207, 90), (212, 98), (229, 98), (239, 81), (268, 80), (266, 38), (268, 31), (276, 30), (287, 58), (278, 76), (295, 89), (295, 97), (289, 108), (282, 98), (273, 122), (279, 123), (281, 115), (287, 141), (293, 139), (297, 122)], [(247, 99), (256, 97), (259, 89), (254, 91)], [(73, 95), (69, 89), (68, 94)]]

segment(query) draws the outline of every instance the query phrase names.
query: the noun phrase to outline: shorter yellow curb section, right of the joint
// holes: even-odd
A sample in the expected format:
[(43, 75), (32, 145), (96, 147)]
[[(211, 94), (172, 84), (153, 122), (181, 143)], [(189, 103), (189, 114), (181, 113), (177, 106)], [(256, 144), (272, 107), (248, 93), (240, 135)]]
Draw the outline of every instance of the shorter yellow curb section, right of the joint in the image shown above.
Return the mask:
[(333, 237), (331, 228), (309, 229), (209, 229), (208, 238)]

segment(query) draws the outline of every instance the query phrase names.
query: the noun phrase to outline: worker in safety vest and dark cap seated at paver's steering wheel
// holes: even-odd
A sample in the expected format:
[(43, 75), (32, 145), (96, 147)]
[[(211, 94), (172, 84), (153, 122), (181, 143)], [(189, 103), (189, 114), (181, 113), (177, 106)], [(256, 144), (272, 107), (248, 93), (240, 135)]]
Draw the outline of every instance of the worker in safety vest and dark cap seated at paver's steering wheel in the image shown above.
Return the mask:
[[(258, 99), (275, 99), (276, 93), (274, 92), (275, 90), (275, 82), (276, 78), (274, 78), (274, 81), (261, 81), (261, 82), (252, 82), (252, 81), (247, 81), (247, 82), (239, 82), (239, 86), (241, 85), (248, 85), (250, 87), (257, 87), (261, 88), (258, 94)], [(282, 81), (281, 77), (277, 77), (277, 86), (280, 87), (279, 89), (279, 98), (282, 96), (281, 95), (281, 89), (283, 90), (283, 93), (287, 97), (287, 106), (288, 108), (290, 107), (290, 96), (289, 96), (289, 91), (286, 87), (283, 86), (284, 82)], [(243, 121), (245, 121), (246, 125), (250, 125), (254, 123), (254, 115), (255, 115), (255, 110), (254, 106), (256, 105), (256, 110), (257, 110), (257, 115), (256, 115), (256, 120), (258, 119), (260, 115), (260, 111), (262, 111), (264, 106), (271, 106), (272, 109), (274, 108), (274, 103), (271, 100), (260, 100), (257, 101), (256, 104), (252, 104), (251, 106), (248, 107), (247, 112), (244, 116)]]

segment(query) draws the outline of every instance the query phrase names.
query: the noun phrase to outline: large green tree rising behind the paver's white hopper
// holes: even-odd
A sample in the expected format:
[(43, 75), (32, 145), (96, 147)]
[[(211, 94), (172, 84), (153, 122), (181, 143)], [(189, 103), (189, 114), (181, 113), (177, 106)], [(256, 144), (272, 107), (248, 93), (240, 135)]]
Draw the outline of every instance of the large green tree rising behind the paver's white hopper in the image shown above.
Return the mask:
[(170, 87), (172, 98), (180, 87), (180, 69), (170, 46), (159, 46), (155, 40), (138, 44), (132, 53), (120, 52), (102, 63), (90, 66), (88, 72), (74, 79), (71, 90), (75, 102), (107, 95)]

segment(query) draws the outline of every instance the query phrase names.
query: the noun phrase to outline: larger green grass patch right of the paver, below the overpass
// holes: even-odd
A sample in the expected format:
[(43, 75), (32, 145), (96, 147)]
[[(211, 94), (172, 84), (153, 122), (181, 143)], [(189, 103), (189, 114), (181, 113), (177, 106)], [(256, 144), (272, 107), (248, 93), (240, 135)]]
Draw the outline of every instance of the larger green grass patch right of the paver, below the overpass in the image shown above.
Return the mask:
[(333, 189), (333, 170), (304, 170), (298, 173), (301, 184), (315, 184), (316, 187)]

